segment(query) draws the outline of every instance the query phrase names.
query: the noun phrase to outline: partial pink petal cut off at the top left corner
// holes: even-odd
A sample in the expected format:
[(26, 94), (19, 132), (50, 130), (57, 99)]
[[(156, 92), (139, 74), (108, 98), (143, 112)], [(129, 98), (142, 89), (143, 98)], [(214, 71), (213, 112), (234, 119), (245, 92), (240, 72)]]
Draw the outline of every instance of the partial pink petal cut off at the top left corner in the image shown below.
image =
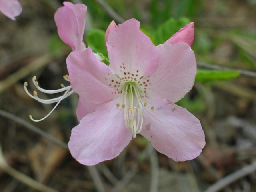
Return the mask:
[(15, 20), (22, 12), (22, 6), (18, 0), (0, 0), (0, 11), (8, 18)]

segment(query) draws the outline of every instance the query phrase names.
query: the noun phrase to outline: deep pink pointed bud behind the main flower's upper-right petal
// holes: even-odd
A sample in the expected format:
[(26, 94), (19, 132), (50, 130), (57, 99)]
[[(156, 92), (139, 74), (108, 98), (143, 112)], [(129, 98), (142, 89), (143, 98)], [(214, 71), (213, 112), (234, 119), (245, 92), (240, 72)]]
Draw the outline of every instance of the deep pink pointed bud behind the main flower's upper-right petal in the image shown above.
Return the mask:
[(187, 24), (184, 28), (181, 28), (177, 33), (171, 36), (165, 43), (187, 43), (192, 46), (194, 42), (195, 26), (194, 22)]

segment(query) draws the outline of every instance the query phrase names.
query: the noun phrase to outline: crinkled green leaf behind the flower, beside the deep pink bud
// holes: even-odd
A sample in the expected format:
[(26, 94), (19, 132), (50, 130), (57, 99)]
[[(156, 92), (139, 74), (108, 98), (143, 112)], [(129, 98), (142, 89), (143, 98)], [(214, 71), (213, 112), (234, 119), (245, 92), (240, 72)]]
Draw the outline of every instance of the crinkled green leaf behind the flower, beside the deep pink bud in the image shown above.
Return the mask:
[(189, 22), (190, 20), (184, 17), (178, 20), (175, 20), (174, 18), (170, 18), (156, 30), (155, 32), (156, 44), (163, 44), (173, 34), (178, 32), (180, 28), (183, 28)]

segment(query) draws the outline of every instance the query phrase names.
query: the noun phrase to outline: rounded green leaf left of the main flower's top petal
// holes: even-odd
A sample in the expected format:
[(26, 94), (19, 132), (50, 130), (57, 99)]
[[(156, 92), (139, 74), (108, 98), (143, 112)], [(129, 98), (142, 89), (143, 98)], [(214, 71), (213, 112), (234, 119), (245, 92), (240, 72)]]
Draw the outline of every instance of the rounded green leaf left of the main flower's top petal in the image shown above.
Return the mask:
[(105, 32), (100, 29), (90, 29), (86, 36), (86, 45), (92, 48), (94, 53), (102, 53), (108, 58), (105, 46)]

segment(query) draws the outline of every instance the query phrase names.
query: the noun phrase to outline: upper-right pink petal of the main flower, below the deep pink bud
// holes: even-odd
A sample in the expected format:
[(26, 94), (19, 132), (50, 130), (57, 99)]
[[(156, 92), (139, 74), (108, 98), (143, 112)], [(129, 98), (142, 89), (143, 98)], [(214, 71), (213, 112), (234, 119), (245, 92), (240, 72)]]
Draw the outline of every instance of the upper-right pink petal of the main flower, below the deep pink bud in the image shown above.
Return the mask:
[(196, 76), (196, 58), (186, 43), (162, 44), (158, 51), (160, 60), (150, 76), (150, 97), (162, 97), (177, 102), (191, 90)]

